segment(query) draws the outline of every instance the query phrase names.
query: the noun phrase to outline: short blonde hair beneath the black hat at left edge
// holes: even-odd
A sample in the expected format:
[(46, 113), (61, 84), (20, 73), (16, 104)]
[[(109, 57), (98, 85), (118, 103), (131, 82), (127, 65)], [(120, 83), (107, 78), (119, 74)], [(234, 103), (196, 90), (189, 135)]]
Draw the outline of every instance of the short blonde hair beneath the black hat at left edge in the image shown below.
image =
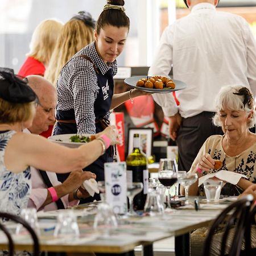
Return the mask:
[(35, 102), (13, 103), (0, 98), (0, 123), (26, 122), (34, 117)]

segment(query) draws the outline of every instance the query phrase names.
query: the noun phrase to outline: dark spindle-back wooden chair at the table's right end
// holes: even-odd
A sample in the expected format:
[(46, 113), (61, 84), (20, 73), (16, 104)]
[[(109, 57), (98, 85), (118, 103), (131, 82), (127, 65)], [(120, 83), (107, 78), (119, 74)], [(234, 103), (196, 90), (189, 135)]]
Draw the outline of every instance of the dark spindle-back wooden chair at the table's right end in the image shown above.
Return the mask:
[(250, 207), (253, 202), (253, 196), (247, 195), (237, 200), (224, 209), (213, 221), (209, 227), (208, 234), (204, 243), (204, 256), (209, 256), (214, 234), (221, 228), (222, 241), (220, 247), (220, 256), (226, 255), (226, 243), (230, 234), (230, 229), (234, 228), (234, 234), (231, 239), (229, 256), (238, 256), (241, 252), (242, 241), (245, 238), (245, 229), (249, 217)]

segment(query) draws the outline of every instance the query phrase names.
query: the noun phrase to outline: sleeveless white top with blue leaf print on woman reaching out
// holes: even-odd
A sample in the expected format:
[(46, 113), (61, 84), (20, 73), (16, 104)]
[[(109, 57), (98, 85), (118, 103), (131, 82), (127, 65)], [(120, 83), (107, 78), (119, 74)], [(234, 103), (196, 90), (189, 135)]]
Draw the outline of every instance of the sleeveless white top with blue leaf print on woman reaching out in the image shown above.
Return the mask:
[(27, 208), (31, 192), (31, 174), (30, 167), (15, 174), (5, 166), (5, 148), (15, 133), (0, 133), (0, 211), (19, 215), (22, 209)]

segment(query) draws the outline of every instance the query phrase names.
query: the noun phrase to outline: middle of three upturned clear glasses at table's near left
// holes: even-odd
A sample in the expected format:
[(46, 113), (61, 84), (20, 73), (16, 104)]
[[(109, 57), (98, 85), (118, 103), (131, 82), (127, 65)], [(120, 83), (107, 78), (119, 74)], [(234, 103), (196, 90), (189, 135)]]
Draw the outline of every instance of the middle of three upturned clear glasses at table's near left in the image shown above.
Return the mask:
[(73, 210), (61, 210), (57, 217), (57, 225), (53, 236), (55, 237), (79, 237), (79, 226)]

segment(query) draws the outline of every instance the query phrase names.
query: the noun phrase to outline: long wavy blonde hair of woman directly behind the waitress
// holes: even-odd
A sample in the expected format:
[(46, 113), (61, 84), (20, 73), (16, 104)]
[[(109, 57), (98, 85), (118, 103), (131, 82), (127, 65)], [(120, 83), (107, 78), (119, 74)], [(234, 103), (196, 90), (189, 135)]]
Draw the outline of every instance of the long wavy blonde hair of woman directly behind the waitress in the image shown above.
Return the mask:
[(76, 52), (93, 42), (94, 30), (82, 20), (72, 19), (64, 24), (57, 39), (44, 77), (56, 86), (60, 70)]

